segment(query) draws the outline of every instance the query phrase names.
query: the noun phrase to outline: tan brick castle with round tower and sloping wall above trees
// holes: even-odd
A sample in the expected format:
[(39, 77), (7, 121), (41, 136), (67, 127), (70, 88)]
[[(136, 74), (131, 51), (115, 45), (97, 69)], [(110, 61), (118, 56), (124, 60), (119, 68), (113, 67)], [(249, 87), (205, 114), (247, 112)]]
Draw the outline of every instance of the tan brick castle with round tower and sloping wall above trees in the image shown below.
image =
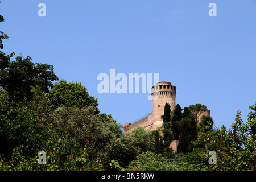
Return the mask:
[[(137, 126), (144, 127), (148, 130), (156, 130), (163, 124), (163, 118), (161, 116), (164, 114), (164, 106), (166, 102), (170, 104), (171, 111), (175, 109), (176, 86), (171, 85), (170, 82), (162, 81), (156, 83), (156, 85), (152, 86), (151, 88), (151, 96), (153, 102), (153, 112), (134, 123), (123, 124), (123, 130), (125, 131), (125, 133), (129, 133)], [(202, 115), (210, 115), (210, 110), (207, 109), (200, 115), (197, 115), (197, 118), (199, 118), (199, 122)]]

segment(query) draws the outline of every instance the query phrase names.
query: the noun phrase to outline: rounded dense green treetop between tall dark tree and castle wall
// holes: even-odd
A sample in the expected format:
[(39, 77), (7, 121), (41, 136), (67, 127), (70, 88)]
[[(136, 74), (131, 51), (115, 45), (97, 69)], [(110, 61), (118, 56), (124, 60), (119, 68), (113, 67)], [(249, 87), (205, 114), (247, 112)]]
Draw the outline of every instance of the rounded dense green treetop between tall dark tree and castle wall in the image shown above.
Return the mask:
[[(67, 82), (66, 80), (60, 80), (54, 84), (54, 88), (48, 94), (51, 101), (51, 108), (57, 109), (58, 107), (73, 107), (76, 106), (79, 109), (85, 106), (98, 106), (97, 98), (89, 96), (85, 86), (82, 86), (81, 82)], [(95, 114), (99, 114), (98, 108), (96, 108)]]

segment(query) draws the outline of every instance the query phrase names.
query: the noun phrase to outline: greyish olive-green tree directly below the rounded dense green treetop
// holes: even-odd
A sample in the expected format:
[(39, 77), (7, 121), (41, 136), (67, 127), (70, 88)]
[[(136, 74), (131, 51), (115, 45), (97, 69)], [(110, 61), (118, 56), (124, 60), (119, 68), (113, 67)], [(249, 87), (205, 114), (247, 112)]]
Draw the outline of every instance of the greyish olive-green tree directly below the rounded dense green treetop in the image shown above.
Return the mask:
[[(67, 132), (67, 137), (77, 135), (82, 145), (85, 140), (89, 140), (92, 146), (96, 147), (98, 137), (102, 131), (102, 123), (97, 115), (94, 115), (96, 107), (59, 107), (52, 114), (49, 125), (53, 126), (57, 132)], [(91, 150), (96, 148), (92, 147)]]

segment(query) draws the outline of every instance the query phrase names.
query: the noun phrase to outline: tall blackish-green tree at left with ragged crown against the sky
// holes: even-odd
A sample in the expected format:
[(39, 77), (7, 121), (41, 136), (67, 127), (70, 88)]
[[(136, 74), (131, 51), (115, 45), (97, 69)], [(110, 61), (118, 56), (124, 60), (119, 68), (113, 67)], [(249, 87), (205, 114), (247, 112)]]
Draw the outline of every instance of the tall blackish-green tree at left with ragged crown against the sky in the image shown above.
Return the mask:
[(16, 102), (31, 101), (34, 93), (32, 86), (39, 86), (44, 92), (53, 88), (53, 81), (59, 78), (53, 72), (53, 66), (48, 64), (32, 63), (31, 57), (16, 57), (15, 53), (5, 55), (0, 52), (0, 88), (5, 89), (11, 100)]

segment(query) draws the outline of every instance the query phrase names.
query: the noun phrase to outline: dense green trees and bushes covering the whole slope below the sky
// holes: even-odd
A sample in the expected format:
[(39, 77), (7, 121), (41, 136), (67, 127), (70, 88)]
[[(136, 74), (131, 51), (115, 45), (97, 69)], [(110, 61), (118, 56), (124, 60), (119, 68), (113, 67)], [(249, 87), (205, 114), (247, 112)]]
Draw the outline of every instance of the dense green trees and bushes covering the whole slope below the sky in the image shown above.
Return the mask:
[[(8, 36), (0, 34), (2, 49)], [(177, 104), (171, 112), (166, 104), (160, 129), (124, 134), (81, 83), (14, 55), (0, 51), (0, 170), (255, 170), (256, 104), (246, 123), (238, 110), (230, 129), (214, 127), (209, 115), (199, 123), (204, 105)], [(46, 164), (39, 165), (39, 151)], [(209, 164), (209, 151), (216, 164)]]

